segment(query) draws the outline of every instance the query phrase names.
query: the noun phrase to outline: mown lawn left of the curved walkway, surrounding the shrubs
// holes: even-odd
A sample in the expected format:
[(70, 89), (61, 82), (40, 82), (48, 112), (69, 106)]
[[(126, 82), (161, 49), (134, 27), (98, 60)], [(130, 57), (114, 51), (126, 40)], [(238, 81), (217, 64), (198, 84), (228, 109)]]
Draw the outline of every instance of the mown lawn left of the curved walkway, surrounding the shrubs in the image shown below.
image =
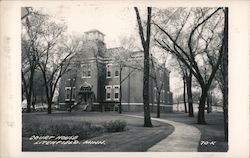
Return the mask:
[[(58, 112), (53, 114), (31, 113), (22, 115), (23, 126), (23, 151), (146, 151), (174, 131), (174, 127), (165, 123), (153, 122), (153, 128), (143, 127), (143, 119), (122, 116), (113, 112)], [(105, 141), (105, 144), (84, 144), (85, 140), (79, 140), (80, 144), (54, 144), (38, 145), (34, 140), (29, 140), (27, 128), (36, 126), (45, 128), (53, 124), (77, 124), (91, 122), (93, 125), (102, 125), (105, 121), (124, 120), (127, 122), (125, 131), (113, 133), (99, 133), (88, 140)]]

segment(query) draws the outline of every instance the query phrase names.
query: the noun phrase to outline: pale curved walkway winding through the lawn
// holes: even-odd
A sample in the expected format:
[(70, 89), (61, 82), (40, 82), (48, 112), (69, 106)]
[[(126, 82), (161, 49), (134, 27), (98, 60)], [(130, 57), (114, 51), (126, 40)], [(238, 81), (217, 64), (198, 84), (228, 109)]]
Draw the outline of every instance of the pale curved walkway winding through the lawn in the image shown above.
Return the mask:
[[(126, 116), (144, 118), (143, 116), (137, 115)], [(151, 119), (171, 124), (175, 127), (175, 130), (167, 138), (163, 139), (162, 141), (149, 148), (149, 152), (197, 152), (201, 133), (196, 127), (166, 119)]]

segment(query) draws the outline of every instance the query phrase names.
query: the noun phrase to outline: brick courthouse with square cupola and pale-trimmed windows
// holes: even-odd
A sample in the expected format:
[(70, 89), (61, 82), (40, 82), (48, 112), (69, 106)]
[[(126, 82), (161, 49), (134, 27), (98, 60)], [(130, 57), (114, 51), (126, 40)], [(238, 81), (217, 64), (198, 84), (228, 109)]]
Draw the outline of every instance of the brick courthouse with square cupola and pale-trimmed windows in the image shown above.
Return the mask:
[[(69, 71), (61, 78), (60, 108), (113, 111), (118, 109), (121, 97), (122, 111), (143, 111), (143, 52), (130, 52), (131, 55), (124, 58), (126, 62), (123, 61), (126, 65), (121, 65), (127, 55), (125, 49), (107, 49), (105, 35), (98, 30), (85, 32), (85, 36), (82, 51), (74, 56)], [(163, 83), (162, 112), (172, 111), (169, 73), (166, 68), (157, 72), (159, 83)], [(156, 111), (156, 88), (152, 78), (149, 84), (151, 110)]]

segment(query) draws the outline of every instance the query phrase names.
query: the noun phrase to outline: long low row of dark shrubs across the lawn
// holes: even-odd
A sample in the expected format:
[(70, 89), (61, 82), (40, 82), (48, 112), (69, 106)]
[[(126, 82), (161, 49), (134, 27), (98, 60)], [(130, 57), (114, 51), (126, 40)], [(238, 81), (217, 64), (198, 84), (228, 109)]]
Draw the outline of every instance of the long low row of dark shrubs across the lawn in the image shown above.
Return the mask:
[(43, 125), (40, 122), (29, 126), (23, 126), (23, 136), (79, 136), (79, 140), (89, 139), (104, 132), (121, 132), (127, 126), (126, 121), (115, 120), (104, 122), (101, 125), (93, 125), (91, 122), (63, 122), (60, 124)]

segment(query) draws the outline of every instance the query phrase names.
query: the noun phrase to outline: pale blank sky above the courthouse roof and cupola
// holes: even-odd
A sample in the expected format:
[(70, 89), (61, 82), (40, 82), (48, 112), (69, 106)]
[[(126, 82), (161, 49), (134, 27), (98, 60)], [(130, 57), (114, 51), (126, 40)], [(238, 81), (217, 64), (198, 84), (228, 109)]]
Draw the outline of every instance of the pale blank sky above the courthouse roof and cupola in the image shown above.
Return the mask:
[[(81, 35), (84, 32), (98, 29), (105, 34), (104, 42), (107, 48), (119, 47), (122, 37), (137, 37), (139, 40), (136, 15), (133, 7), (96, 7), (96, 6), (61, 6), (58, 8), (43, 8), (57, 20), (62, 20), (68, 26), (68, 33)], [(141, 18), (145, 19), (145, 8), (139, 8)], [(140, 44), (140, 41), (137, 41)], [(182, 92), (182, 82), (177, 72), (170, 74), (170, 90), (174, 95)]]

